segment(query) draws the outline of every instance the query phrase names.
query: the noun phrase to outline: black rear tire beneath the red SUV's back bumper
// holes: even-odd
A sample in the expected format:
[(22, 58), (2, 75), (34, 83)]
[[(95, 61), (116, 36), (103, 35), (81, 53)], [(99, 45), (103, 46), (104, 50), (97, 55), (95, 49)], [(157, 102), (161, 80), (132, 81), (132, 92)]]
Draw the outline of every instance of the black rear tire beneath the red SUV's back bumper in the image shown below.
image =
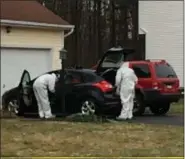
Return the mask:
[(156, 105), (150, 106), (150, 111), (154, 115), (165, 115), (169, 110), (170, 110), (170, 103), (164, 103), (161, 106), (156, 106)]

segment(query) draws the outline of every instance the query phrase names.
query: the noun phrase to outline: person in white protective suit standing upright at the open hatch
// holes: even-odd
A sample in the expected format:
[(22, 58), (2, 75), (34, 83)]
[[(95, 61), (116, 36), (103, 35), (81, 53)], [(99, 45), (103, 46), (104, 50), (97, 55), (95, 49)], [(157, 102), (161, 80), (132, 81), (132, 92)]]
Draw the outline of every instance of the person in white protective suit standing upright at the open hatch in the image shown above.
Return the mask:
[(138, 81), (134, 71), (128, 67), (128, 63), (123, 63), (117, 71), (115, 85), (117, 94), (120, 95), (122, 110), (117, 119), (132, 119), (135, 85)]

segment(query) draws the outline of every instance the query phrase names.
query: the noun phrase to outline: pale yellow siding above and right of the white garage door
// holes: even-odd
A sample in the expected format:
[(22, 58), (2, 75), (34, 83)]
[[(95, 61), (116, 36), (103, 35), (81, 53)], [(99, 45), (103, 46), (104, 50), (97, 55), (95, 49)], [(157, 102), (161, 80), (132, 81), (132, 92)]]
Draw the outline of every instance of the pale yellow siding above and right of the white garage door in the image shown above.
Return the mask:
[(64, 47), (64, 32), (36, 28), (1, 27), (1, 47), (50, 48), (52, 69), (61, 68), (59, 50)]

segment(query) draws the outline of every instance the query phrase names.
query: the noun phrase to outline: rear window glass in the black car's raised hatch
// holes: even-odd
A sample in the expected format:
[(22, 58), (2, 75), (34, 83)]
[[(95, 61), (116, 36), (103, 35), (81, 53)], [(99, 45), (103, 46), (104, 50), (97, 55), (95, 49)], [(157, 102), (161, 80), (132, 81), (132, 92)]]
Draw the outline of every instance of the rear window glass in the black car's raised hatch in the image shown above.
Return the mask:
[(110, 52), (104, 58), (101, 67), (119, 67), (124, 60), (124, 54), (120, 52)]

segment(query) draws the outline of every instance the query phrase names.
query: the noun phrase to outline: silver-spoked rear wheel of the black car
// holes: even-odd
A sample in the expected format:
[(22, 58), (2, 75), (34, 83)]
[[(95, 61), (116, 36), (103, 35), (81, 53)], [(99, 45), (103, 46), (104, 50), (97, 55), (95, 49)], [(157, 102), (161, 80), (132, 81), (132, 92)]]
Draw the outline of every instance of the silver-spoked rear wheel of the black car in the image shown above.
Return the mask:
[(86, 99), (81, 102), (82, 115), (95, 115), (97, 105), (93, 99)]

